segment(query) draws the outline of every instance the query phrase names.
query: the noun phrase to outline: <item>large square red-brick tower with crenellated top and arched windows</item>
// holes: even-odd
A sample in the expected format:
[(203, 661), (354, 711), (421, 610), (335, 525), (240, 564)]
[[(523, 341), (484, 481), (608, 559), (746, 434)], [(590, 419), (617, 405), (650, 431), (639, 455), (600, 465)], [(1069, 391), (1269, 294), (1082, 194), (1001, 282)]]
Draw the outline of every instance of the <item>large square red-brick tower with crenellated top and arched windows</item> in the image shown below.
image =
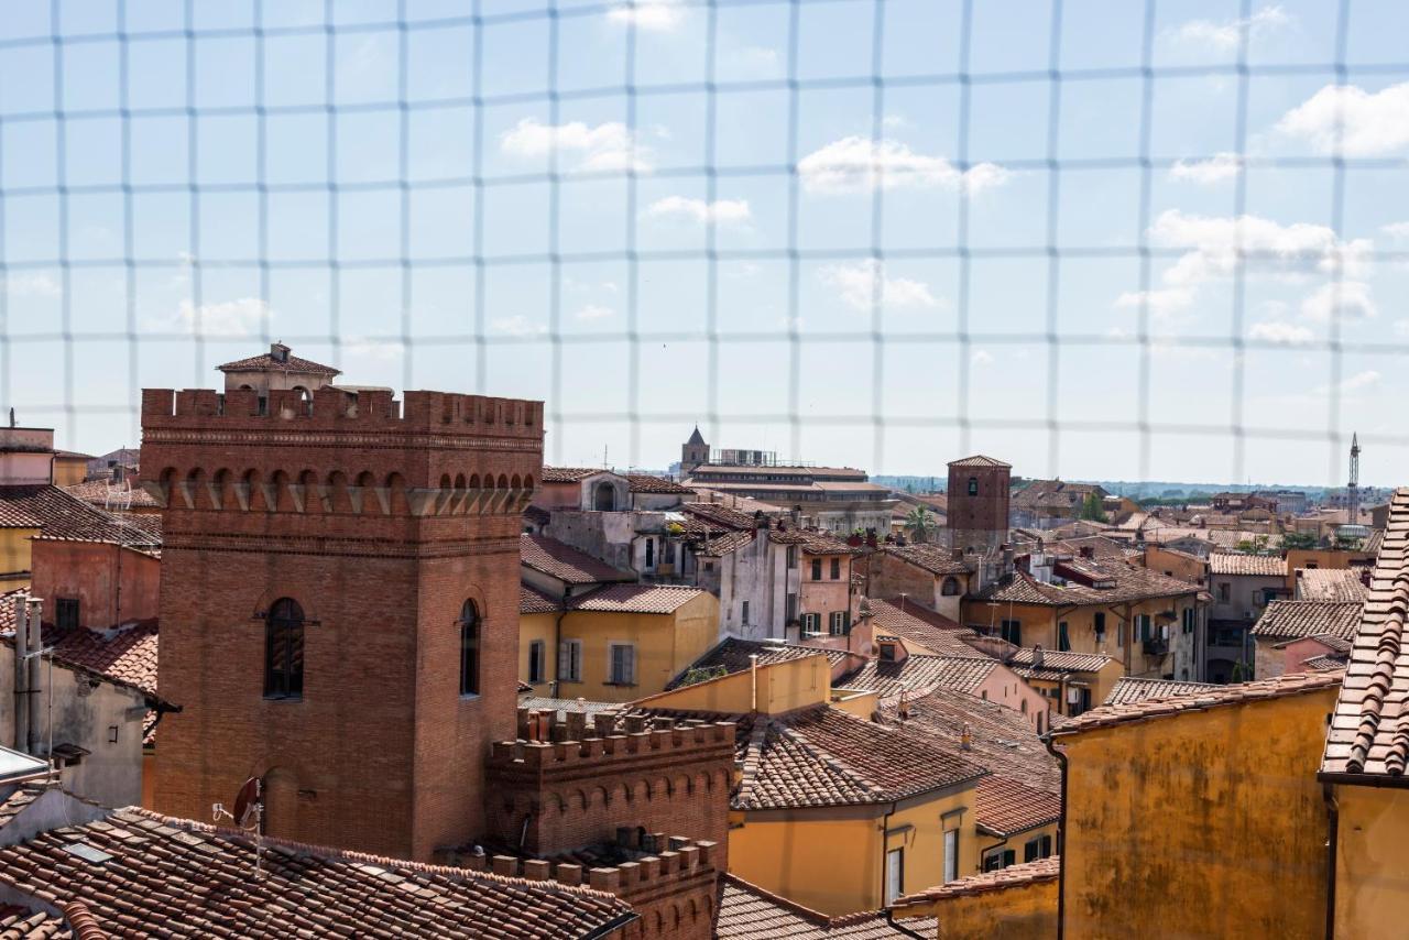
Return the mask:
[(519, 528), (542, 404), (142, 392), (163, 505), (156, 808), (265, 779), (265, 830), (430, 858), (483, 827), (514, 737)]

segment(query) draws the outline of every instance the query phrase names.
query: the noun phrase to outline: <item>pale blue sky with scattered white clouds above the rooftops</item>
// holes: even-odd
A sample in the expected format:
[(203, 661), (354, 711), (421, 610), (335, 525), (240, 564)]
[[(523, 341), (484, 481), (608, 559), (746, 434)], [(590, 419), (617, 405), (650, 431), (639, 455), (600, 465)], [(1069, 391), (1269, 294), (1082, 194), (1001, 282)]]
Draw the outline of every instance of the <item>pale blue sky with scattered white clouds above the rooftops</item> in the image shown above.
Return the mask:
[(1350, 4), (1337, 89), (1337, 7), (1167, 0), (1147, 82), (1146, 4), (983, 0), (965, 86), (944, 0), (280, 0), (262, 39), (251, 3), (15, 4), (0, 392), (101, 452), (137, 389), (282, 338), (547, 399), (564, 464), (697, 420), (885, 474), (1332, 483), (1358, 430), (1402, 482), (1409, 11)]

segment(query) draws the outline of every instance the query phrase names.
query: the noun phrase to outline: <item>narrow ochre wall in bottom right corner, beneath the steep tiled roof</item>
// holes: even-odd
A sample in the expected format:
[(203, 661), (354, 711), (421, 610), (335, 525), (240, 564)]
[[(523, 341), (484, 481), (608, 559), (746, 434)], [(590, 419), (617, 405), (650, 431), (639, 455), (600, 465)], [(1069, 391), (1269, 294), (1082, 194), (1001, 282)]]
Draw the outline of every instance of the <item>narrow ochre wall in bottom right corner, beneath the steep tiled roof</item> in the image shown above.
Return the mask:
[(1409, 791), (1337, 786), (1336, 936), (1402, 936), (1409, 924)]

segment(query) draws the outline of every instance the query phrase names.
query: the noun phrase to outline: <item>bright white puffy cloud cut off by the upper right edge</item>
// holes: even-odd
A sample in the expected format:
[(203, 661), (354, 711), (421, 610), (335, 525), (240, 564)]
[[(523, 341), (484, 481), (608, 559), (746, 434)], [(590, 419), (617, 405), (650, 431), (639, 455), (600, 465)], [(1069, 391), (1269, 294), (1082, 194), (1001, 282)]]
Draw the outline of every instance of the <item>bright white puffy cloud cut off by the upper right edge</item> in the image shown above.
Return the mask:
[(1375, 156), (1402, 149), (1409, 145), (1409, 82), (1374, 93), (1327, 85), (1284, 114), (1277, 130), (1323, 154)]

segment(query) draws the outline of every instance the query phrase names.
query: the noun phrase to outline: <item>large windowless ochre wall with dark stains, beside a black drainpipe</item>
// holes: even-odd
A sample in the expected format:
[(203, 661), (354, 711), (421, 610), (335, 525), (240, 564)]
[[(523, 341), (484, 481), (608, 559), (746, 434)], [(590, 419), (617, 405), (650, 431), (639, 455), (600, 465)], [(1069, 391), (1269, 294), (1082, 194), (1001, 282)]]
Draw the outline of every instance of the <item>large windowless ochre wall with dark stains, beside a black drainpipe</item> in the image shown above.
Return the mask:
[[(1336, 688), (1127, 723), (1068, 753), (1068, 937), (1313, 937), (1326, 919), (1316, 768)], [(1348, 934), (1347, 934), (1348, 936)]]

